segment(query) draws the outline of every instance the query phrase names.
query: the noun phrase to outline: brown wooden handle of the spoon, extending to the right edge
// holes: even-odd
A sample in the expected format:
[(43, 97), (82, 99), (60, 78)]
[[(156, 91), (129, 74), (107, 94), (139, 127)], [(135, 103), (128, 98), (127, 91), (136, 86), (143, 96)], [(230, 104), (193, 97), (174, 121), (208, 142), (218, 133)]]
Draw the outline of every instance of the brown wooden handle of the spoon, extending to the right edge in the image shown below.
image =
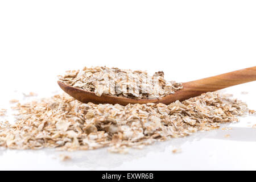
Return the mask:
[(214, 92), (229, 86), (239, 85), (256, 80), (256, 67), (240, 69), (217, 76), (183, 83), (183, 89), (177, 90), (174, 96), (167, 96), (163, 103), (170, 104), (176, 100), (186, 100), (200, 96), (202, 93)]

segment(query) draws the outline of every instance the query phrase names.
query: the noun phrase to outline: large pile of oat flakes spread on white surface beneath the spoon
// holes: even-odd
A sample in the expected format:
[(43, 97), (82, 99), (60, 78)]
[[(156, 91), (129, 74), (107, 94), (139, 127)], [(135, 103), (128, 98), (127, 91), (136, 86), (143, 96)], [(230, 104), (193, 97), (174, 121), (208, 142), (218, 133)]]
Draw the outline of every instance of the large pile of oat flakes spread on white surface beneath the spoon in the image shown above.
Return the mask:
[[(18, 120), (0, 122), (0, 146), (13, 149), (122, 152), (155, 141), (184, 137), (237, 122), (248, 112), (242, 101), (209, 92), (164, 104), (82, 104), (67, 94), (17, 104)], [(5, 110), (3, 110), (5, 112)]]

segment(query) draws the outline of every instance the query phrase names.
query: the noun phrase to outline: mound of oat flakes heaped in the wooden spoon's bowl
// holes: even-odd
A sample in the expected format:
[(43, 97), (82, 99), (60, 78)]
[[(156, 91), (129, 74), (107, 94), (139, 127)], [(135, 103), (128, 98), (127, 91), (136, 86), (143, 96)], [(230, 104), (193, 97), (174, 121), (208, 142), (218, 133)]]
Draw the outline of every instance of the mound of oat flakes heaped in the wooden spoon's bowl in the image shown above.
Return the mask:
[(149, 76), (147, 72), (107, 67), (92, 67), (67, 71), (59, 80), (76, 88), (102, 94), (128, 98), (154, 99), (174, 94), (181, 83), (164, 80), (163, 72)]

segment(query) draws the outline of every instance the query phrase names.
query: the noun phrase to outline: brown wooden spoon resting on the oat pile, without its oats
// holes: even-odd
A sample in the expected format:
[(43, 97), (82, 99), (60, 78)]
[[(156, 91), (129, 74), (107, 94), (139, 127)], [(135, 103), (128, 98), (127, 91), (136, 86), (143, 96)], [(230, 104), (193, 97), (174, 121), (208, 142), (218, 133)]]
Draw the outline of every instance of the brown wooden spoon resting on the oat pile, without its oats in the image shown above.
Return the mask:
[(146, 104), (151, 103), (163, 103), (171, 104), (176, 100), (184, 101), (191, 97), (200, 96), (202, 93), (213, 92), (216, 90), (224, 89), (229, 86), (243, 84), (245, 82), (256, 80), (256, 67), (240, 69), (238, 71), (224, 73), (222, 75), (212, 76), (203, 78), (200, 80), (189, 81), (183, 83), (183, 89), (177, 90), (174, 94), (162, 97), (160, 99), (133, 99), (123, 98), (115, 96), (96, 96), (93, 92), (88, 92), (83, 89), (75, 88), (58, 81), (58, 84), (64, 92), (67, 92), (70, 96), (77, 100), (88, 103), (93, 102), (94, 104)]

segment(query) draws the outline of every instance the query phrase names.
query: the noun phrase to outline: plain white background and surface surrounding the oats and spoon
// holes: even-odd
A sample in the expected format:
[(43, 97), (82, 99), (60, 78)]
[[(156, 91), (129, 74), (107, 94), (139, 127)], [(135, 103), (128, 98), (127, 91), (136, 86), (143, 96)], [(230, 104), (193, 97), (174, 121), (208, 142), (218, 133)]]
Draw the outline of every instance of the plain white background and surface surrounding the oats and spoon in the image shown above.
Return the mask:
[[(0, 0), (1, 107), (23, 92), (61, 93), (56, 76), (84, 66), (164, 71), (179, 82), (253, 67), (255, 10), (255, 1), (234, 0)], [(256, 108), (255, 82), (228, 90)], [(230, 139), (216, 130), (129, 155), (72, 153), (65, 164), (54, 151), (2, 151), (0, 169), (256, 169), (253, 122), (232, 125)], [(173, 155), (177, 146), (183, 152)]]

